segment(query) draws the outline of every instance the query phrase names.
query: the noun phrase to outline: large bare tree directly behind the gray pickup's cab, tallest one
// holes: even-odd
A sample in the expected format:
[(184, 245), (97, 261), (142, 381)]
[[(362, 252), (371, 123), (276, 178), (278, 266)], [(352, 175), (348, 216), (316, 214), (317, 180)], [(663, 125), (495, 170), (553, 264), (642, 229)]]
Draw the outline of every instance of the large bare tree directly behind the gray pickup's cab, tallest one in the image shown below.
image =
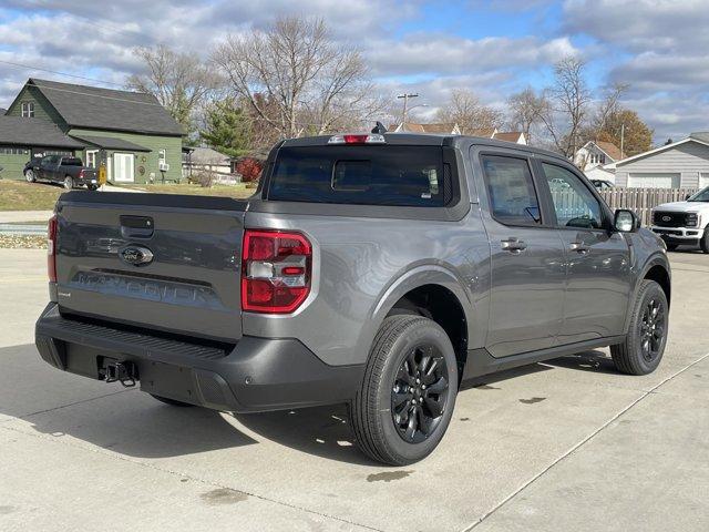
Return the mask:
[(229, 35), (212, 57), (230, 90), (280, 136), (325, 133), (380, 105), (359, 50), (336, 45), (320, 19), (281, 18), (266, 31)]

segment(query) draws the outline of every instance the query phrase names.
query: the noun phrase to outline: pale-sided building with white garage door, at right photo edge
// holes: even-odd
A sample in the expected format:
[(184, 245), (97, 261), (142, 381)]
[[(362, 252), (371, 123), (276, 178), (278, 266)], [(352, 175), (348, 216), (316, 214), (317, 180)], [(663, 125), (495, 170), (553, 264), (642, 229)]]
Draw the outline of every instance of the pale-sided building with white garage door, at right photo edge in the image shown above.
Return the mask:
[(709, 132), (616, 163), (616, 185), (651, 188), (709, 186)]

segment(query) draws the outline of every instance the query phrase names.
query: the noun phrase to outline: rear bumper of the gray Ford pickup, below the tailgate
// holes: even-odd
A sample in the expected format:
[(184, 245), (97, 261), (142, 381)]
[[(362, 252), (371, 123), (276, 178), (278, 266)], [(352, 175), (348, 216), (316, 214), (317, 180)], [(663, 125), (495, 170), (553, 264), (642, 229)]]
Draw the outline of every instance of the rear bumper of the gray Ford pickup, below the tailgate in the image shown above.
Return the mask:
[(294, 338), (192, 344), (62, 317), (55, 303), (37, 321), (35, 344), (64, 371), (104, 379), (106, 365), (130, 362), (143, 391), (234, 412), (347, 402), (364, 374), (363, 365), (328, 366)]

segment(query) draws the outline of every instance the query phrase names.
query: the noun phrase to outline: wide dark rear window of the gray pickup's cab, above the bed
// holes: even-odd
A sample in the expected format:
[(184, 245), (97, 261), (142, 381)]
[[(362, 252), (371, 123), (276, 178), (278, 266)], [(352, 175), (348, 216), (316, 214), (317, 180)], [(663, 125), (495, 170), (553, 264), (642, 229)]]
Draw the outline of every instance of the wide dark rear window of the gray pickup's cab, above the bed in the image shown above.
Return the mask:
[(451, 168), (440, 146), (284, 147), (268, 198), (442, 207), (451, 198)]

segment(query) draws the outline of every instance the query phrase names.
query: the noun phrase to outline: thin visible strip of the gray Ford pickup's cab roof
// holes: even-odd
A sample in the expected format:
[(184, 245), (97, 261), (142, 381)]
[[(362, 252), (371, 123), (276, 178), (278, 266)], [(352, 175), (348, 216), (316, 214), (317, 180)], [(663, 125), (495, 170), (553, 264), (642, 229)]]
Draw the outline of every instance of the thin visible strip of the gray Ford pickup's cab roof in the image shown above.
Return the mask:
[[(360, 132), (361, 134), (361, 132)], [(281, 146), (322, 146), (327, 145), (332, 135), (304, 136), (300, 139), (287, 139)], [(491, 147), (506, 147), (522, 152), (538, 153), (548, 157), (566, 161), (563, 155), (543, 150), (540, 147), (515, 144), (506, 141), (496, 141), (482, 136), (449, 135), (442, 133), (384, 133), (387, 144), (392, 145), (417, 145), (417, 146), (452, 146), (464, 149), (471, 145), (483, 145)]]

